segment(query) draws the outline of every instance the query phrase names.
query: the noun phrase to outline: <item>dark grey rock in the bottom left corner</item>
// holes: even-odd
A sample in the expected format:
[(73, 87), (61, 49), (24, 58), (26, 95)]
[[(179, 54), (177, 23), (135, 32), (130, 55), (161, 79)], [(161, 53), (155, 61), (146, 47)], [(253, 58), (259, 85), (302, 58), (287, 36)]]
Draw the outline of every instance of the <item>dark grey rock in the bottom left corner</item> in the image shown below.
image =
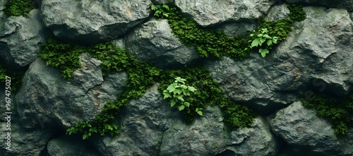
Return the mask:
[[(5, 140), (5, 138), (8, 138), (8, 131), (5, 129), (6, 123), (1, 122), (0, 125), (0, 136)], [(8, 146), (6, 143), (2, 142), (0, 145), (0, 152), (3, 154), (1, 155), (33, 156), (40, 155), (54, 131), (49, 128), (26, 130), (20, 127), (19, 124), (11, 123), (11, 131), (9, 133), (11, 133), (11, 148), (10, 150), (7, 150), (6, 148)], [(5, 141), (7, 142), (7, 139)]]

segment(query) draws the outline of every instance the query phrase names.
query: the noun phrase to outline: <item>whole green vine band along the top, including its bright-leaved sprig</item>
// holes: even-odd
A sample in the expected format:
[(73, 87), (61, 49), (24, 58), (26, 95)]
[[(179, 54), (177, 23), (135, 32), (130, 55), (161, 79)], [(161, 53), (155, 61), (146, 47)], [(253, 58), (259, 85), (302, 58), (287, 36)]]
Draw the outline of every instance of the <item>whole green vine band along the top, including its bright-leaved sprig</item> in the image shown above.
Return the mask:
[[(152, 7), (156, 8), (157, 6)], [(162, 8), (162, 6), (158, 7)], [(268, 49), (273, 47), (273, 44), (286, 39), (289, 32), (292, 31), (293, 21), (306, 18), (302, 6), (291, 4), (288, 8), (290, 19), (261, 20), (256, 30), (248, 37), (239, 35), (228, 37), (222, 30), (202, 28), (195, 21), (182, 16), (175, 6), (168, 9), (168, 16), (158, 17), (167, 18), (173, 34), (179, 37), (183, 44), (195, 46), (201, 57), (220, 58), (221, 56), (228, 56), (234, 59), (244, 59), (249, 56), (250, 49), (257, 46), (259, 46), (261, 55), (265, 56), (265, 54), (268, 54)], [(266, 44), (262, 44), (264, 39)], [(257, 40), (261, 42), (256, 42)], [(249, 41), (251, 41), (250, 45)]]

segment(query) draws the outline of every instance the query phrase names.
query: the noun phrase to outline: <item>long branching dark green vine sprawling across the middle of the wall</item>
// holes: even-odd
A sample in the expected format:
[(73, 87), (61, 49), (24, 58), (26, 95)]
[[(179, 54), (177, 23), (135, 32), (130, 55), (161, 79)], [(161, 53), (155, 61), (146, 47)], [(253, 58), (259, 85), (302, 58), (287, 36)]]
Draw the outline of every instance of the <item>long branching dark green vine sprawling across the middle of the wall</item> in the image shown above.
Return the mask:
[(80, 66), (79, 57), (82, 52), (88, 52), (90, 56), (102, 61), (102, 71), (104, 75), (109, 73), (126, 71), (128, 80), (126, 89), (116, 97), (116, 100), (104, 104), (102, 112), (92, 121), (80, 121), (66, 130), (66, 134), (82, 133), (83, 139), (88, 139), (92, 134), (97, 133), (104, 136), (110, 133), (112, 136), (119, 134), (118, 125), (115, 124), (115, 117), (122, 107), (128, 103), (142, 97), (146, 90), (153, 84), (160, 82), (161, 95), (162, 88), (167, 88), (174, 82), (174, 78), (183, 76), (188, 78), (190, 85), (200, 88), (194, 90), (192, 104), (184, 108), (186, 122), (191, 124), (196, 116), (203, 114), (202, 111), (207, 105), (220, 106), (225, 112), (225, 123), (234, 128), (251, 126), (253, 118), (256, 116), (249, 108), (234, 104), (224, 97), (220, 86), (210, 77), (206, 68), (192, 67), (182, 69), (160, 69), (152, 66), (148, 62), (138, 61), (134, 56), (128, 54), (126, 50), (116, 47), (112, 43), (95, 44), (90, 47), (79, 46), (59, 42), (54, 38), (48, 40), (41, 49), (40, 57), (47, 62), (47, 65), (58, 68), (61, 76), (70, 80), (73, 70)]

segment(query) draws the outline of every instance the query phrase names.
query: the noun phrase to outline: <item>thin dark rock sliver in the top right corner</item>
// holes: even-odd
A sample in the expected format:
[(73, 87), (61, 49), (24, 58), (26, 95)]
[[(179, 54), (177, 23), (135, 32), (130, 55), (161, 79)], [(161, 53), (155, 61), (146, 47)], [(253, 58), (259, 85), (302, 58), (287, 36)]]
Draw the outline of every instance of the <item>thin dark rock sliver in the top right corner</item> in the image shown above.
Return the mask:
[(352, 0), (287, 0), (289, 4), (306, 4), (313, 6), (325, 6), (328, 8), (345, 8), (353, 11)]

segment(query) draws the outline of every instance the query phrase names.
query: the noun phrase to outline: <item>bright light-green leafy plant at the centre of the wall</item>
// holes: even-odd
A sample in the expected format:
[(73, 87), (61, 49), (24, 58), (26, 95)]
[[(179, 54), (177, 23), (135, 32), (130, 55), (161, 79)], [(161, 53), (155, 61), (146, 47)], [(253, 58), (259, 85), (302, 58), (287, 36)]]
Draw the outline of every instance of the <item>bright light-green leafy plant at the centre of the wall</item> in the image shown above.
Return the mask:
[[(197, 90), (192, 86), (185, 85), (185, 81), (186, 79), (177, 77), (174, 83), (168, 86), (167, 90), (163, 90), (164, 99), (172, 99), (170, 100), (170, 107), (174, 107), (175, 104), (179, 103), (179, 111), (190, 107), (190, 104), (193, 102), (191, 93)], [(202, 116), (202, 110), (202, 108), (196, 108), (195, 111)]]

